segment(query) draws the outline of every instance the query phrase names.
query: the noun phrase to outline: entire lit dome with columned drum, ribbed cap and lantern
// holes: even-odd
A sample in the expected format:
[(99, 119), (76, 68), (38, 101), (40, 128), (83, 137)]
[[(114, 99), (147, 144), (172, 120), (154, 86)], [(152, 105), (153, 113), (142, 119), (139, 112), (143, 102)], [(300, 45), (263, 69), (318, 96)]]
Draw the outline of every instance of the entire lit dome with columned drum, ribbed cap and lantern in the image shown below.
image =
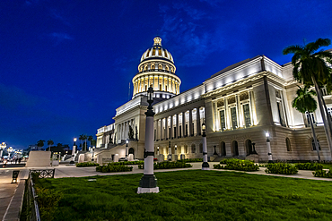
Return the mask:
[(175, 74), (176, 67), (170, 52), (162, 47), (162, 38), (153, 38), (153, 47), (147, 49), (138, 64), (133, 78), (133, 98), (146, 95), (152, 86), (155, 98), (171, 98), (179, 94), (181, 80)]

